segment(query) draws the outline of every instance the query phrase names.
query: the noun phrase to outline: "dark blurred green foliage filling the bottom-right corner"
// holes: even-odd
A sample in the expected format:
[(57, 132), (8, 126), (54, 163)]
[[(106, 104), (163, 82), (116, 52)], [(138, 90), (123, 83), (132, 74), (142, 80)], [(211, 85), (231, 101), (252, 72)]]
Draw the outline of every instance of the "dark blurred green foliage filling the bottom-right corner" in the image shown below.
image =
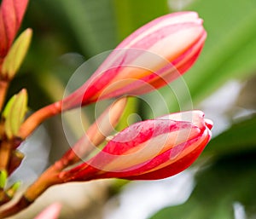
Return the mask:
[(160, 210), (151, 219), (233, 219), (234, 204), (255, 216), (255, 154), (218, 160), (196, 177), (196, 187), (183, 205)]

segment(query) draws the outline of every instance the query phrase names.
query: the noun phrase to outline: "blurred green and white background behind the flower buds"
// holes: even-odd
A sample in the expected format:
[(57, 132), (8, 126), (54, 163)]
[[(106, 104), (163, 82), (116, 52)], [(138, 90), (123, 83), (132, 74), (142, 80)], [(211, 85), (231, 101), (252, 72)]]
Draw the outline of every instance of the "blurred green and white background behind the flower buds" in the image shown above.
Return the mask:
[[(199, 108), (214, 122), (212, 141), (201, 157), (189, 170), (166, 180), (53, 187), (14, 218), (32, 218), (55, 201), (63, 205), (60, 218), (256, 218), (254, 0), (30, 1), (21, 30), (32, 28), (32, 45), (9, 96), (26, 87), (31, 111), (61, 99), (69, 78), (84, 61), (114, 49), (148, 21), (180, 10), (198, 12), (207, 30), (199, 60), (183, 77), (191, 99), (177, 98), (184, 90), (178, 82), (172, 90), (160, 89), (168, 109), (161, 107), (156, 93), (133, 98), (118, 129), (137, 119)], [(88, 77), (84, 72), (84, 80)], [(139, 118), (129, 117), (132, 113)], [(94, 106), (86, 107), (84, 127), (94, 117)], [(67, 124), (73, 137), (78, 137), (76, 124)], [(68, 147), (61, 117), (49, 119), (22, 145), (26, 160), (13, 180), (32, 182)]]

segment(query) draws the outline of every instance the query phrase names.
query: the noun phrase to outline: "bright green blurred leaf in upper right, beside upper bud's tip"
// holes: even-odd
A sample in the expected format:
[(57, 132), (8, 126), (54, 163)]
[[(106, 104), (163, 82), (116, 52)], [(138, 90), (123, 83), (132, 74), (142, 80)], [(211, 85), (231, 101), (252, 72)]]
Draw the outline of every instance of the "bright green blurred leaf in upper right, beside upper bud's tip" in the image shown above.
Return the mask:
[(207, 29), (199, 61), (185, 75), (194, 102), (201, 101), (230, 78), (246, 79), (256, 70), (256, 2), (195, 1)]

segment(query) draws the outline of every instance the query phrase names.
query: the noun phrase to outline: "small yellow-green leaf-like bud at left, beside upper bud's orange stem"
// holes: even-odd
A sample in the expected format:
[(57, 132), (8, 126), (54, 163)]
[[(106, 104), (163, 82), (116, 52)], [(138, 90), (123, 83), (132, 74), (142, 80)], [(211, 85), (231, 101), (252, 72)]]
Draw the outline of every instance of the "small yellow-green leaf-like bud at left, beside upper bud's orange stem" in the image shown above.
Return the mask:
[(14, 95), (3, 111), (5, 118), (4, 130), (9, 139), (18, 134), (27, 110), (27, 93), (22, 89), (18, 95)]

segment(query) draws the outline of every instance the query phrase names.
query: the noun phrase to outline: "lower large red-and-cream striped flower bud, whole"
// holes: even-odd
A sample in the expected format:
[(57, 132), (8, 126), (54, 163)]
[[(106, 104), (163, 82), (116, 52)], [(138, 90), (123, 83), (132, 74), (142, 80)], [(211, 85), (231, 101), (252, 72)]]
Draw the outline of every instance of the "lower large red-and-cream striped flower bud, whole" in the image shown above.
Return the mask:
[(156, 180), (192, 164), (211, 138), (212, 121), (201, 111), (177, 112), (133, 124), (84, 164), (61, 173), (64, 181), (118, 177)]

